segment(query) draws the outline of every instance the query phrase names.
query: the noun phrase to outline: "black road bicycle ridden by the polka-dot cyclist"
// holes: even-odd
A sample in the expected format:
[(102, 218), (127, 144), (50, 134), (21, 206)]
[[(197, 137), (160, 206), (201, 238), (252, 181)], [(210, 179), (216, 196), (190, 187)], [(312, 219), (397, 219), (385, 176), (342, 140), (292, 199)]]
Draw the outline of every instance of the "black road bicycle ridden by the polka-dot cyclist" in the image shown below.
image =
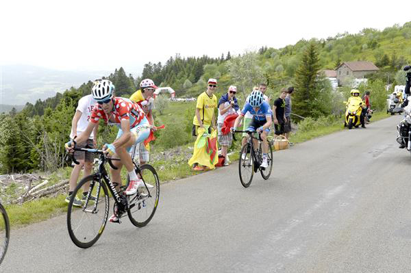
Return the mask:
[[(99, 155), (97, 172), (85, 177), (77, 184), (71, 195), (69, 209), (67, 211), (67, 228), (73, 243), (79, 248), (89, 248), (101, 236), (109, 215), (109, 200), (114, 200), (114, 214), (119, 218), (128, 216), (134, 226), (142, 227), (147, 225), (153, 218), (158, 206), (160, 197), (160, 180), (158, 174), (149, 164), (138, 166), (134, 161), (136, 174), (145, 184), (145, 187), (139, 187), (136, 194), (132, 196), (125, 195), (124, 191), (127, 185), (121, 186), (120, 191), (116, 191), (117, 183), (110, 181), (105, 163), (108, 162), (111, 168), (117, 169), (113, 160), (104, 155), (102, 150), (89, 148), (74, 148), (74, 151), (84, 151)], [(75, 164), (78, 162), (73, 157)], [(128, 184), (129, 179), (127, 179)], [(83, 197), (82, 187), (90, 183), (88, 194)], [(147, 187), (151, 185), (152, 187)], [(110, 195), (109, 195), (110, 192)], [(73, 206), (75, 196), (83, 198), (82, 207)]]

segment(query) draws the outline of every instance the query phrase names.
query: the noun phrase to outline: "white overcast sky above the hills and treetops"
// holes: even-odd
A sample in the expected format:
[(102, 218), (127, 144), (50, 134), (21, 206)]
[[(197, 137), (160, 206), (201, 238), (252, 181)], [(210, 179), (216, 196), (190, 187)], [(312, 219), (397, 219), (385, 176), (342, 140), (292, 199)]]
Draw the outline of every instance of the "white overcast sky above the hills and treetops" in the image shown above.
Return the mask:
[[(410, 1), (1, 1), (0, 63), (60, 70), (217, 57), (411, 21)], [(411, 45), (410, 45), (411, 46)]]

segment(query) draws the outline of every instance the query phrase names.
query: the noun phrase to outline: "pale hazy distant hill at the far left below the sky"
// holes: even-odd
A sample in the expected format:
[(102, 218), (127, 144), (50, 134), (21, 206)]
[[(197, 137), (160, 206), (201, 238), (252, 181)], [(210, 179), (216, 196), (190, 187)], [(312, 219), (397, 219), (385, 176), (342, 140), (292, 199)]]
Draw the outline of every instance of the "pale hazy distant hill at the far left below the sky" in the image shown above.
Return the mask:
[(80, 86), (89, 80), (97, 79), (107, 72), (75, 72), (53, 70), (38, 66), (5, 65), (1, 66), (1, 103), (25, 105), (38, 99), (47, 99), (56, 92), (72, 86)]

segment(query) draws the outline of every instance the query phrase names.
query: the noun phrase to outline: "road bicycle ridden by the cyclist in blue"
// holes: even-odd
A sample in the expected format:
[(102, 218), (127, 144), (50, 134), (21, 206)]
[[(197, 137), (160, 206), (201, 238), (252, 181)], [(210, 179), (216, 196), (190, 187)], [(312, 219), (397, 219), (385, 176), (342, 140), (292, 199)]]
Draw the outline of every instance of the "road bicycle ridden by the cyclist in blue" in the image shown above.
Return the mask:
[[(258, 138), (254, 136), (256, 131), (234, 131), (234, 133), (247, 133), (247, 144), (242, 146), (240, 152), (240, 159), (238, 160), (238, 174), (240, 176), (241, 185), (244, 187), (249, 187), (251, 181), (253, 180), (254, 172), (260, 170), (263, 179), (269, 179), (271, 175), (271, 170), (273, 170), (273, 148), (271, 148), (271, 143), (267, 142), (268, 149), (268, 166), (267, 168), (262, 168), (262, 139), (260, 134)], [(254, 144), (254, 145), (253, 145)], [(255, 149), (254, 146), (257, 146)]]

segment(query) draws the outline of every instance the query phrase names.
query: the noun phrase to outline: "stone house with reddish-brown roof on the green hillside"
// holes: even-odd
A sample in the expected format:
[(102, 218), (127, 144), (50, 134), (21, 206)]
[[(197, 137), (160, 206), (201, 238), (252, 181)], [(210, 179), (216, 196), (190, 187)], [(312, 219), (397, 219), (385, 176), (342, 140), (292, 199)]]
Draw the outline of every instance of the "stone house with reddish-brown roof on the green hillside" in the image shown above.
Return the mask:
[(378, 70), (379, 68), (373, 62), (343, 62), (336, 69), (338, 86), (342, 86), (347, 77), (362, 79), (365, 75), (377, 72)]

